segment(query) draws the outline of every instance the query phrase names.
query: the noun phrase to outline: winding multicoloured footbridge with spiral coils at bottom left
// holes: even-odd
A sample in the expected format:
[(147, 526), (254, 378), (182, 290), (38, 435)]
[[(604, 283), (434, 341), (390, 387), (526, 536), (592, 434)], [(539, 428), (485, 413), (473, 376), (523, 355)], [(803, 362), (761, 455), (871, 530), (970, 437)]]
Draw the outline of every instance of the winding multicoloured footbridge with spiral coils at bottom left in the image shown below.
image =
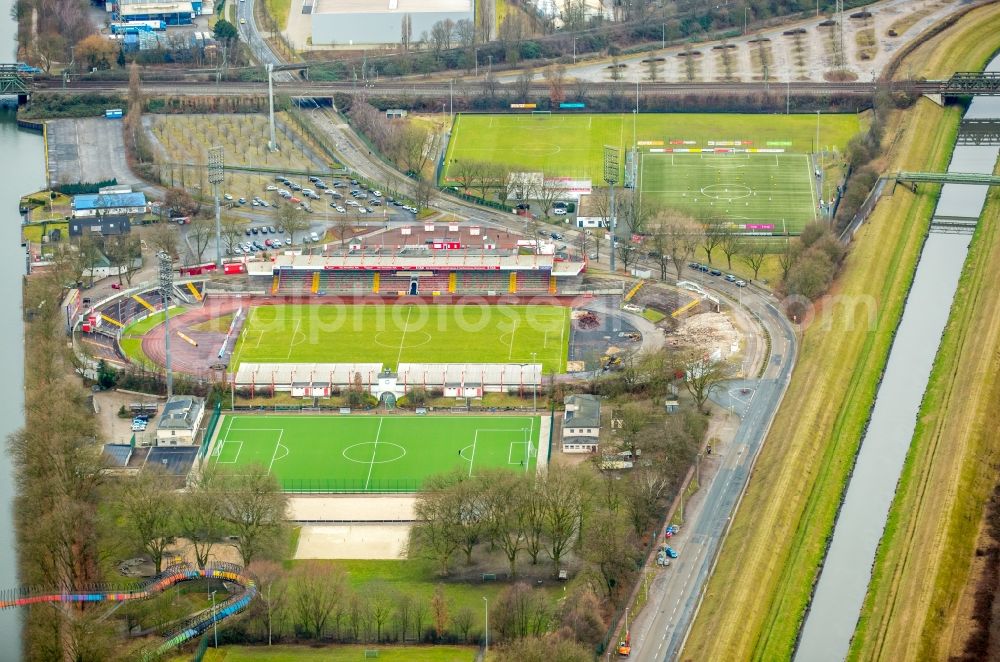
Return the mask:
[(171, 628), (164, 641), (149, 657), (159, 656), (199, 636), (213, 623), (239, 614), (257, 596), (257, 582), (241, 566), (232, 563), (216, 563), (205, 568), (196, 568), (188, 563), (172, 565), (166, 570), (133, 587), (121, 590), (94, 590), (65, 593), (40, 593), (27, 589), (0, 592), (0, 609), (27, 607), (51, 602), (125, 602), (145, 600), (169, 589), (180, 582), (196, 579), (220, 579), (238, 585), (242, 590), (233, 593), (224, 602), (212, 609), (206, 609)]

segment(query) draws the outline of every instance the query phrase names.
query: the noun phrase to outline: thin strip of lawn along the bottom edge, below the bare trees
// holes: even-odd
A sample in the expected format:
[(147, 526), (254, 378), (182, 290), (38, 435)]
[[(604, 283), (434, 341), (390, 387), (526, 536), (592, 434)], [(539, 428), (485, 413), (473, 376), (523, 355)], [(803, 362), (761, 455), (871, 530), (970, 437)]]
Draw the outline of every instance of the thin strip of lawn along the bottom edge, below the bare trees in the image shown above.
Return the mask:
[[(366, 650), (377, 650), (379, 662), (472, 662), (471, 646), (226, 646), (209, 648), (205, 662), (358, 662)], [(180, 659), (180, 658), (178, 658)], [(188, 658), (183, 658), (188, 659)]]

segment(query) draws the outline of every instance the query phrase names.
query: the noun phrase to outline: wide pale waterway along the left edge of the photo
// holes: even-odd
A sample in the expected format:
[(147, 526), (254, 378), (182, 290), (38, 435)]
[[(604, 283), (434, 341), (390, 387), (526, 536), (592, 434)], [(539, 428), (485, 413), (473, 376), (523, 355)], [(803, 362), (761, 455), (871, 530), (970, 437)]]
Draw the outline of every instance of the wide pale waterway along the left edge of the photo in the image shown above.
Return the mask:
[[(0, 14), (0, 62), (14, 62), (17, 24), (10, 18), (12, 0)], [(24, 329), (21, 326), (21, 279), (24, 252), (17, 207), (21, 195), (45, 186), (42, 137), (21, 131), (14, 111), (0, 109), (0, 439), (24, 425)], [(17, 586), (17, 554), (12, 506), (14, 475), (10, 456), (0, 453), (0, 588)], [(21, 657), (21, 615), (17, 610), (0, 611), (0, 661)]]

